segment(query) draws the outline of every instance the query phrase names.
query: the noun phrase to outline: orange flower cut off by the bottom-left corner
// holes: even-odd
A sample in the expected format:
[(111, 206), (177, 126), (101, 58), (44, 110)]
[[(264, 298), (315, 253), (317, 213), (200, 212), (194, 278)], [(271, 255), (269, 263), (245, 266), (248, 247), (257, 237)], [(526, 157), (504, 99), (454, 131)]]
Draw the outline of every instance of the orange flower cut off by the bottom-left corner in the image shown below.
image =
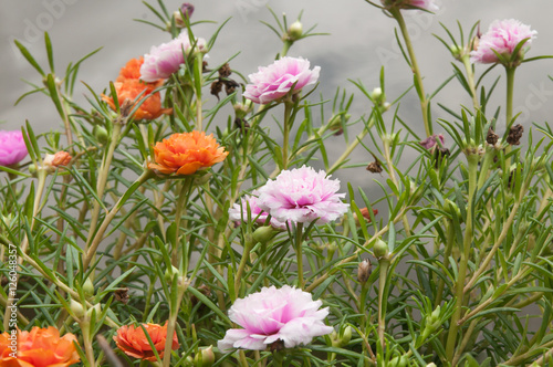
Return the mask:
[[(17, 347), (11, 348), (15, 336)], [(76, 337), (73, 334), (60, 337), (60, 332), (53, 326), (3, 333), (0, 335), (0, 366), (67, 367), (81, 360), (74, 343)]]

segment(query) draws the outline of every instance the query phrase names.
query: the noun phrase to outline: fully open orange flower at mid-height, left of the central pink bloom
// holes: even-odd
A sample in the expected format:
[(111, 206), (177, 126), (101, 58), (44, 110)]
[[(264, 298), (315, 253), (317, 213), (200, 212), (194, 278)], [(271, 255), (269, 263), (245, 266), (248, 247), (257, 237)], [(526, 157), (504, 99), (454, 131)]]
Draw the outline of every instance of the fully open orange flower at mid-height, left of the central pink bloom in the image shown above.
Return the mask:
[(157, 164), (148, 164), (148, 168), (161, 174), (192, 175), (198, 169), (211, 167), (225, 160), (228, 151), (217, 144), (213, 134), (205, 132), (173, 134), (168, 139), (154, 147)]

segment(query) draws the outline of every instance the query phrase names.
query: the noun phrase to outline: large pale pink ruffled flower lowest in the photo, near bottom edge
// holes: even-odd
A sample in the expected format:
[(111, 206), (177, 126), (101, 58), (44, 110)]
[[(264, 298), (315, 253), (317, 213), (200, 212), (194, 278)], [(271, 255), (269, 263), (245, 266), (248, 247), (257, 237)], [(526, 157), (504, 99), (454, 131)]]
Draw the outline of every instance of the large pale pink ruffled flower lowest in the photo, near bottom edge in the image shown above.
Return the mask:
[(243, 328), (227, 331), (217, 346), (221, 352), (229, 352), (232, 348), (263, 350), (276, 340), (284, 342), (286, 348), (309, 344), (313, 337), (333, 332), (323, 322), (328, 307), (319, 310), (322, 304), (321, 300), (313, 301), (311, 293), (289, 285), (263, 287), (237, 300), (230, 307), (230, 319)]

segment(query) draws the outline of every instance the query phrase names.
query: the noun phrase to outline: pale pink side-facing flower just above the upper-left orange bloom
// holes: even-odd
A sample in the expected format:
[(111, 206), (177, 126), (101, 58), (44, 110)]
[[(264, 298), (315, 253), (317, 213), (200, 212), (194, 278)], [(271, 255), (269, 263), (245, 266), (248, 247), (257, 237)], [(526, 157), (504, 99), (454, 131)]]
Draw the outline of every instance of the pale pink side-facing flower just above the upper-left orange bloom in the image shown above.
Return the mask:
[[(192, 45), (186, 31), (168, 43), (152, 46), (149, 53), (144, 55), (144, 64), (140, 66), (140, 80), (153, 83), (158, 78), (169, 77), (185, 63), (185, 55), (190, 53), (191, 48)], [(196, 49), (205, 52), (206, 40), (196, 39)]]

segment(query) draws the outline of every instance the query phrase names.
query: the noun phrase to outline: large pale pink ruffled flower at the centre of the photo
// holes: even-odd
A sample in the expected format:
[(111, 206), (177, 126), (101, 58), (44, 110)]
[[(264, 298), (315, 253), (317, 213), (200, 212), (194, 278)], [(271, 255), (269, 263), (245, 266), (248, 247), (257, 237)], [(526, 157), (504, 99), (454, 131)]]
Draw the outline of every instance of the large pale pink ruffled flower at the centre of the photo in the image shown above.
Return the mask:
[(340, 180), (326, 178), (325, 171), (315, 172), (303, 166), (282, 171), (259, 189), (259, 207), (278, 221), (324, 224), (342, 217), (347, 205), (336, 193)]

